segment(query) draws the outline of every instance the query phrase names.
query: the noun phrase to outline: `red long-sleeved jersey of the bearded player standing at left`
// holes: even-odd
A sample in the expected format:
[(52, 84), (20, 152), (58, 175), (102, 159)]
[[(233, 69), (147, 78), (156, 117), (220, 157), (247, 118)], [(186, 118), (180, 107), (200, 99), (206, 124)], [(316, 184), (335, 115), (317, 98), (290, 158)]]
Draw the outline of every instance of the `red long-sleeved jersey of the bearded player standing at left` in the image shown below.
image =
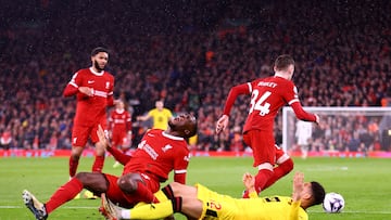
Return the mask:
[[(93, 96), (78, 92), (79, 87), (92, 88)], [(64, 96), (76, 94), (74, 124), (91, 126), (100, 122), (105, 127), (106, 107), (113, 105), (113, 88), (114, 77), (109, 72), (84, 68), (75, 73), (63, 92)]]

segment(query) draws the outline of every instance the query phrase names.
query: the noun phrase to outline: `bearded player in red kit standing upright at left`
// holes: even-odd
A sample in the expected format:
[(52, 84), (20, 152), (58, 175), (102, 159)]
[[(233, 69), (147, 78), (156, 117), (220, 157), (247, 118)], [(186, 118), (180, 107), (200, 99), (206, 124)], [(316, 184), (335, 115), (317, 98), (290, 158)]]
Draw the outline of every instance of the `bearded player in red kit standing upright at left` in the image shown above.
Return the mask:
[(93, 172), (101, 172), (104, 164), (104, 150), (97, 147), (98, 126), (106, 129), (106, 107), (114, 105), (114, 77), (104, 70), (109, 62), (109, 52), (96, 48), (91, 52), (91, 67), (76, 72), (63, 91), (64, 96), (76, 95), (76, 115), (72, 129), (72, 153), (70, 157), (70, 177), (74, 177), (83, 150), (88, 141), (96, 145)]

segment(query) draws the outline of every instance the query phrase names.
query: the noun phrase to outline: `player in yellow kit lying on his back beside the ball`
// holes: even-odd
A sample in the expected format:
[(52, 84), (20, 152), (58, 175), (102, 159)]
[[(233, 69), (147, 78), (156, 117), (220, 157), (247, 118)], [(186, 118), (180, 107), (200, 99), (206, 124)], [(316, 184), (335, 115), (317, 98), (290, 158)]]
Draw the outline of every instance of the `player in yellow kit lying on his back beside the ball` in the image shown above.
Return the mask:
[(168, 199), (157, 204), (146, 204), (133, 209), (115, 206), (102, 194), (101, 213), (110, 220), (160, 219), (180, 212), (189, 219), (230, 220), (306, 220), (306, 208), (320, 204), (325, 189), (318, 182), (304, 182), (304, 174), (293, 177), (292, 196), (257, 197), (255, 178), (243, 174), (243, 184), (250, 198), (232, 198), (213, 192), (201, 184), (195, 186), (171, 183), (162, 189)]

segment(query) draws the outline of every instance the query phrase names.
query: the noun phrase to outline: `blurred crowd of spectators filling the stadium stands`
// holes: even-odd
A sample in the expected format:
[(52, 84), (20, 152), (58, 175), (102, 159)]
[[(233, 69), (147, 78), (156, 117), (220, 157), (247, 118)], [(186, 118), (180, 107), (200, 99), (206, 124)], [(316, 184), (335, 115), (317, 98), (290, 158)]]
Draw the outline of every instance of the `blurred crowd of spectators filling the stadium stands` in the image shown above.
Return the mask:
[[(231, 86), (270, 75), (282, 53), (297, 62), (293, 80), (303, 106), (391, 105), (390, 1), (26, 4), (2, 9), (8, 16), (0, 25), (4, 148), (71, 147), (75, 100), (62, 91), (98, 46), (111, 51), (115, 96), (128, 102), (134, 118), (156, 100), (176, 114), (191, 112), (199, 122), (197, 150), (244, 150), (245, 98), (231, 111), (230, 130), (215, 135), (225, 98)], [(336, 120), (317, 128), (329, 134), (318, 137), (329, 138), (316, 140), (314, 148), (391, 150), (391, 141), (379, 138), (379, 118)], [(277, 125), (280, 140), (280, 117)], [(142, 131), (135, 128), (136, 134)]]

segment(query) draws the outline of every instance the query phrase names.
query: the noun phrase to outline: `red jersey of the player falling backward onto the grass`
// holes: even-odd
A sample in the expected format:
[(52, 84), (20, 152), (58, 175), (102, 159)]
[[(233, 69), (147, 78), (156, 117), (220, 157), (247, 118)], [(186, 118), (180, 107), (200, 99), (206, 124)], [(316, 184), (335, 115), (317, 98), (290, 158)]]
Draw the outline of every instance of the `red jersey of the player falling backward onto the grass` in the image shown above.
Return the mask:
[(151, 129), (143, 135), (123, 173), (147, 172), (164, 182), (172, 170), (176, 174), (187, 172), (189, 153), (185, 139)]

